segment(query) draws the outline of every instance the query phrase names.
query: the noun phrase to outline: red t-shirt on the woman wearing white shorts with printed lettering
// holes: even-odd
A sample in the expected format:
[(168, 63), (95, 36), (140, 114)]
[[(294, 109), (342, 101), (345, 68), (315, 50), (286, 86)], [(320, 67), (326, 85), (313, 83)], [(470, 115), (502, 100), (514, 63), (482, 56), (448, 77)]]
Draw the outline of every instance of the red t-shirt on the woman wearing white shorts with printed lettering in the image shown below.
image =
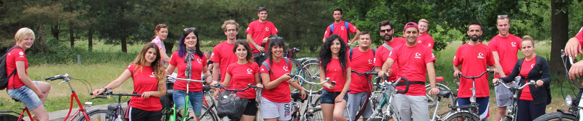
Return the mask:
[[(271, 68), (271, 72), (273, 72), (273, 74), (271, 72), (269, 72), (267, 70), (267, 67), (265, 66), (261, 66), (261, 70), (259, 72), (261, 72), (261, 74), (268, 74), (269, 75), (269, 80), (273, 81), (278, 79), (279, 77), (282, 77), (283, 74), (286, 73), (291, 73), (290, 69), (291, 64), (287, 64), (286, 60), (283, 60), (284, 58), (281, 58), (279, 60), (279, 62), (273, 62), (273, 65), (271, 65), (269, 63), (269, 59), (265, 60), (265, 62), (267, 62), (267, 65), (269, 65), (269, 67)], [(287, 58), (285, 58), (287, 59)], [(291, 62), (290, 62), (291, 63)], [(262, 96), (265, 99), (268, 99), (269, 101), (272, 102), (291, 102), (291, 97), (289, 96), (282, 96), (282, 95), (290, 95), (290, 87), (289, 87), (289, 82), (287, 81), (282, 81), (282, 83), (279, 83), (278, 86), (275, 86), (273, 88), (271, 88), (271, 90), (263, 90), (263, 94)]]

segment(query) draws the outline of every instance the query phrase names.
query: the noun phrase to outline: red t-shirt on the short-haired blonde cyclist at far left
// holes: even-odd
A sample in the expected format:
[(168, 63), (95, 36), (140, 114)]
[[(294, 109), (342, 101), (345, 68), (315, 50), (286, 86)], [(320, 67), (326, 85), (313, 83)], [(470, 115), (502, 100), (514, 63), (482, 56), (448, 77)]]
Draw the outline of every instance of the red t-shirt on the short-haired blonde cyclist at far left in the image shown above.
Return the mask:
[[(14, 47), (20, 47), (19, 45), (14, 45)], [(22, 48), (22, 47), (20, 47)], [(29, 69), (29, 60), (26, 59), (26, 53), (20, 48), (12, 49), (12, 51), (8, 52), (6, 55), (6, 75), (10, 76), (10, 73), (14, 72), (16, 69), (16, 62), (17, 61), (24, 61), (24, 72), (26, 76), (29, 75), (29, 72), (26, 69)], [(15, 89), (24, 86), (22, 80), (18, 76), (18, 72), (15, 72), (10, 79), (8, 79), (8, 85), (6, 88), (8, 89)], [(14, 87), (14, 88), (13, 88)]]

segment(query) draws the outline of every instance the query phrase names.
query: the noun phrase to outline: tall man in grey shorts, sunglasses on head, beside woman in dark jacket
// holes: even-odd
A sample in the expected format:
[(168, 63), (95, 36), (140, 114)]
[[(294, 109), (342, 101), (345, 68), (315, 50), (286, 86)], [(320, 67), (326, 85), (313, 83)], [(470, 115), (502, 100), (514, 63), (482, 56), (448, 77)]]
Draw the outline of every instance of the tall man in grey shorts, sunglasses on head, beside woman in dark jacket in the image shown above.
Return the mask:
[[(520, 37), (508, 32), (510, 29), (508, 15), (498, 15), (496, 27), (498, 28), (498, 35), (488, 43), (496, 62), (494, 66), (500, 72), (494, 75), (494, 78), (506, 77), (512, 72), (515, 63), (518, 61), (517, 53), (521, 48), (520, 43), (522, 41)], [(496, 120), (500, 120), (506, 113), (506, 107), (511, 104), (510, 97), (512, 92), (503, 86), (496, 86), (494, 90), (496, 91), (496, 105), (498, 106)]]

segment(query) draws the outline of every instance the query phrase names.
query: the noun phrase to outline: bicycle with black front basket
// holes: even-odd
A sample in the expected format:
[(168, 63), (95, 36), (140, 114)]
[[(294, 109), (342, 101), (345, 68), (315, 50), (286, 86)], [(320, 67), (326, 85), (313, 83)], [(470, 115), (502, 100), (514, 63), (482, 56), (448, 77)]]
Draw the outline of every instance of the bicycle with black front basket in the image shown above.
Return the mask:
[(248, 84), (248, 86), (245, 87), (243, 90), (238, 90), (237, 88), (229, 90), (226, 87), (230, 86), (221, 86), (220, 84), (216, 84), (215, 86), (210, 87), (217, 87), (222, 88), (222, 90), (225, 90), (219, 91), (219, 94), (217, 96), (218, 97), (217, 102), (219, 103), (217, 103), (215, 107), (217, 110), (216, 113), (217, 116), (223, 121), (241, 120), (241, 116), (243, 115), (242, 111), (247, 106), (248, 98), (243, 94), (238, 94), (237, 91), (245, 91), (249, 88), (264, 89), (262, 87), (257, 87), (253, 84)]

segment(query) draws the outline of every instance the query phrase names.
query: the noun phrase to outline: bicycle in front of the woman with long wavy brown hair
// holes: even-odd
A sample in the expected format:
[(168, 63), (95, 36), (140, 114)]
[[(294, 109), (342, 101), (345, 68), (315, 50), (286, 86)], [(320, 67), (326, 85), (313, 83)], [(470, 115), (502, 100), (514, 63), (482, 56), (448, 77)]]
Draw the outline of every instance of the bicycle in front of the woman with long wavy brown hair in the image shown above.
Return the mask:
[[(93, 92), (89, 92), (89, 95), (93, 95)], [(121, 107), (121, 104), (125, 101), (121, 101), (121, 97), (122, 96), (135, 96), (135, 97), (141, 97), (142, 94), (127, 94), (127, 93), (118, 93), (115, 94), (113, 93), (113, 91), (111, 90), (107, 90), (106, 92), (101, 93), (100, 95), (102, 95), (101, 97), (94, 97), (91, 99), (96, 99), (96, 98), (110, 98), (110, 97), (114, 97), (117, 96), (117, 104), (109, 104), (107, 105), (107, 110), (104, 109), (100, 109), (98, 111), (94, 111), (94, 112), (90, 112), (87, 113), (87, 116), (91, 117), (91, 120), (115, 120), (115, 121), (122, 121), (124, 119), (124, 109)], [(107, 97), (107, 95), (110, 95), (110, 97)], [(81, 121), (83, 119), (79, 119), (79, 121)]]

